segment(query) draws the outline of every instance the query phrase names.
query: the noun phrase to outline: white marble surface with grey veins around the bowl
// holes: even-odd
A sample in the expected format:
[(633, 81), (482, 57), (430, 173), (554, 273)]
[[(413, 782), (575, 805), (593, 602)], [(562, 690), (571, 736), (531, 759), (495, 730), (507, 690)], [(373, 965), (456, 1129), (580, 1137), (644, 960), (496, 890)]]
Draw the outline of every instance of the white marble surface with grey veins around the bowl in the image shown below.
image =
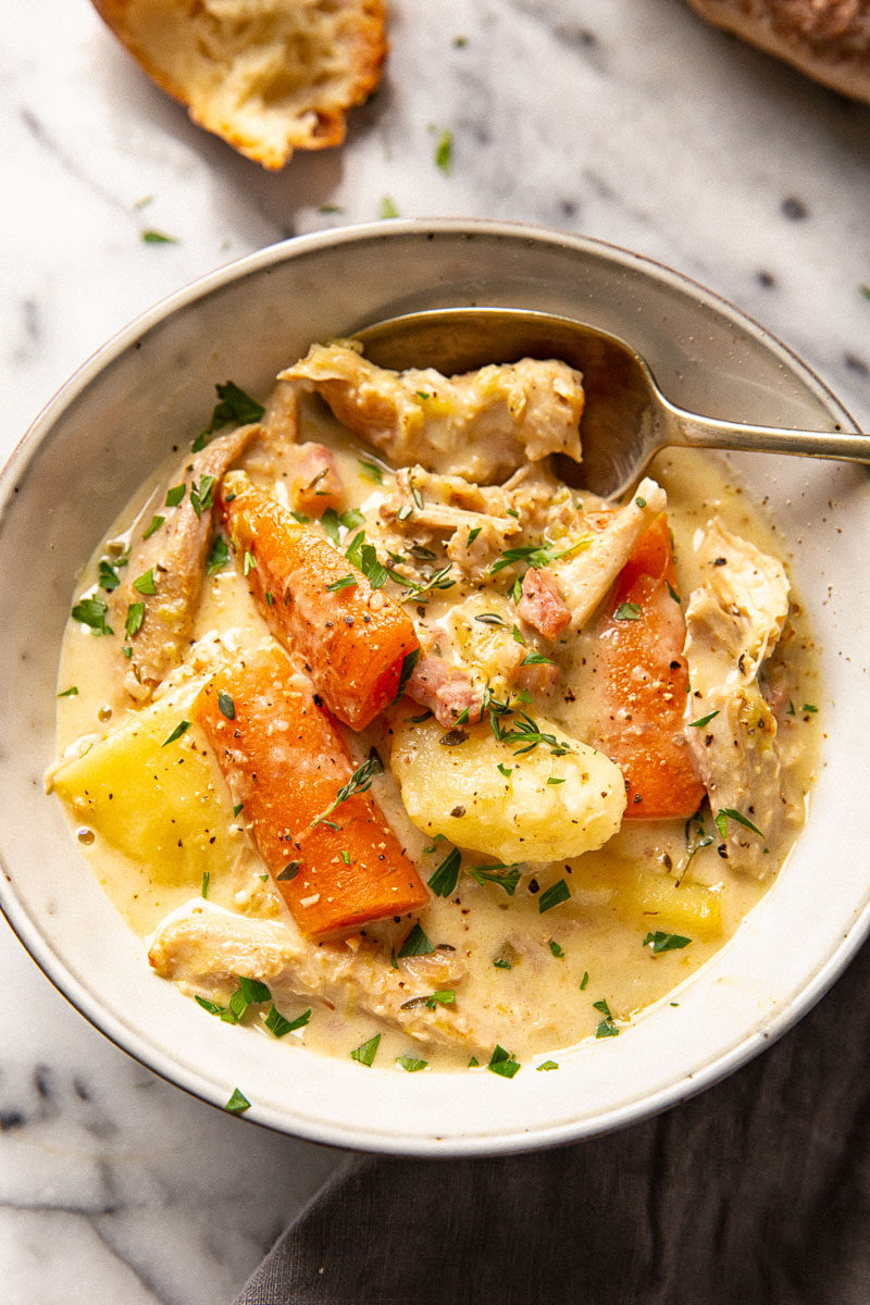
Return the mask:
[[(793, 346), (870, 428), (870, 108), (682, 0), (391, 0), (381, 93), (342, 150), (279, 176), (190, 125), (86, 0), (7, 8), (3, 458), (162, 295), (284, 236), (377, 218), (385, 197), (403, 217), (537, 222), (668, 262)], [(146, 244), (145, 228), (177, 243)], [(0, 984), (4, 1305), (232, 1300), (339, 1158), (129, 1061), (5, 925)]]

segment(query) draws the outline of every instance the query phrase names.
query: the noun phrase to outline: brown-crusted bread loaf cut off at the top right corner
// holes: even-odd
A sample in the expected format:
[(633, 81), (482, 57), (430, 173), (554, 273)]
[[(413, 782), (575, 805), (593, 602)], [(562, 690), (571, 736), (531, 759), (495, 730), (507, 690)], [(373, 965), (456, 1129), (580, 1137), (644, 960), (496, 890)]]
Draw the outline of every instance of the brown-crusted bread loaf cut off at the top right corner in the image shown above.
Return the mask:
[(870, 0), (689, 0), (702, 18), (870, 102)]

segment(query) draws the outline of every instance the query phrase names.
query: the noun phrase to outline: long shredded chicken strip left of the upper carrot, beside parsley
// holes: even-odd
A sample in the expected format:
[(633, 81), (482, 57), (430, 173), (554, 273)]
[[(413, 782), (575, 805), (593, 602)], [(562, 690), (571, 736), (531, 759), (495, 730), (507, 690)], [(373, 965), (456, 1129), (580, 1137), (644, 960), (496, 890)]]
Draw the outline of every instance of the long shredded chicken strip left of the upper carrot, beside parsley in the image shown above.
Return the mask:
[[(110, 599), (119, 632), (125, 629), (132, 604), (143, 604), (141, 626), (128, 632), (132, 658), (123, 663), (124, 688), (133, 698), (146, 701), (189, 645), (211, 542), (213, 495), (258, 431), (258, 425), (241, 425), (213, 440), (168, 485), (160, 485), (150, 496), (133, 525), (130, 538), (136, 543), (121, 583)], [(184, 479), (184, 497), (176, 506), (167, 506), (167, 489), (180, 483), (177, 475)], [(162, 522), (151, 531), (157, 518)], [(133, 587), (149, 573), (153, 594), (147, 592), (147, 585)]]

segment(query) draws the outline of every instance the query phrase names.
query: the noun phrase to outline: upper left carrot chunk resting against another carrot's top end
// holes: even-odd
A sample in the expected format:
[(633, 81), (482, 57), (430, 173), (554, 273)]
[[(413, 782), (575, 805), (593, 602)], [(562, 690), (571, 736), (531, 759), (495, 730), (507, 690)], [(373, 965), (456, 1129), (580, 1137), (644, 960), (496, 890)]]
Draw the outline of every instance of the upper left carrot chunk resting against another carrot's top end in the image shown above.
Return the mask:
[(330, 711), (364, 729), (395, 698), (402, 663), (420, 646), (413, 621), (244, 474), (227, 478), (219, 509), (270, 630), (297, 649)]

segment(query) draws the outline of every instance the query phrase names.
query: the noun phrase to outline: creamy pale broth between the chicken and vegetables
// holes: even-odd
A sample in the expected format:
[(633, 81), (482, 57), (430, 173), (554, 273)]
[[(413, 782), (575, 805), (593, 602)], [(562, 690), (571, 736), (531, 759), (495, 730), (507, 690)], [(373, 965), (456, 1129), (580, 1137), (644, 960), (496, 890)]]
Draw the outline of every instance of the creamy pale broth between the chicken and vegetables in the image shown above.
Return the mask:
[[(346, 508), (360, 506), (367, 512), (377, 509), (390, 488), (391, 471), (368, 446), (348, 436), (325, 414), (317, 401), (303, 401), (300, 440), (317, 440), (335, 452), (346, 489)], [(382, 485), (363, 471), (360, 459), (382, 467)], [(247, 462), (252, 478), (263, 488), (273, 488), (280, 500), (280, 488), (275, 491), (258, 474), (256, 452), (243, 457), (239, 465), (244, 467)], [(76, 596), (97, 582), (99, 560), (111, 555), (111, 542), (125, 539), (132, 527), (141, 530), (147, 525), (138, 519), (141, 504), (155, 484), (172, 484), (180, 479), (180, 466), (176, 455), (149, 478), (143, 491), (107, 531), (85, 569)], [(753, 540), (763, 551), (787, 560), (787, 545), (775, 523), (767, 521), (753, 505), (750, 495), (736, 483), (724, 459), (673, 450), (659, 457), (651, 474), (668, 491), (668, 521), (674, 538), (681, 594), (687, 595), (700, 582), (693, 538), (711, 515), (719, 517), (727, 529)], [(342, 544), (346, 547), (352, 531), (343, 531), (342, 535)], [(425, 621), (437, 624), (454, 603), (470, 592), (470, 586), (459, 585), (436, 594), (425, 611)], [(413, 612), (413, 603), (408, 603), (408, 609)], [(588, 694), (593, 692), (593, 681), (583, 666), (584, 659), (587, 667), (592, 660), (588, 655), (591, 638), (591, 634), (583, 633), (573, 639), (569, 654), (563, 658), (561, 685), (547, 699), (545, 706), (549, 718), (580, 740), (587, 731)], [(205, 650), (200, 664), (173, 672), (158, 693), (158, 698), (177, 702), (179, 718), (185, 715), (193, 693), (215, 662), (270, 639), (249, 596), (247, 582), (232, 561), (206, 579), (193, 639), (198, 649)], [(215, 639), (223, 641), (222, 645), (215, 645)], [(211, 660), (213, 656), (215, 660)], [(112, 666), (116, 659), (117, 643), (113, 638), (98, 637), (70, 620), (61, 651), (57, 688), (59, 693), (64, 693), (74, 685), (78, 692), (59, 698), (59, 757), (81, 753), (90, 741), (100, 739), (107, 731), (136, 715), (138, 709), (113, 685)], [(794, 715), (787, 713), (780, 716), (783, 750), (797, 788), (806, 793), (811, 786), (818, 723), (813, 713), (802, 711), (801, 707), (818, 701), (818, 683), (811, 636), (794, 594), (789, 625), (773, 660), (785, 667), (783, 673), (787, 677), (788, 698), (796, 707)], [(565, 686), (570, 693), (562, 692)], [(537, 705), (530, 710), (544, 714)], [(364, 758), (369, 748), (376, 745), (385, 762), (390, 743), (390, 729), (381, 720), (350, 739), (355, 757)], [(194, 749), (201, 757), (209, 756), (205, 736), (196, 726), (188, 731), (180, 746)], [(214, 792), (220, 795), (230, 812), (232, 799), (213, 758), (210, 767)], [(446, 840), (436, 842), (415, 827), (403, 808), (389, 766), (374, 780), (372, 793), (400, 843), (416, 861), (425, 882), (451, 844)], [(147, 940), (168, 912), (203, 891), (201, 876), (170, 881), (155, 873), (154, 868), (121, 855), (90, 830), (86, 818), (80, 816), (81, 813), (73, 812), (70, 820), (82, 853), (119, 912), (143, 940)], [(637, 919), (627, 920), (618, 904), (618, 887), (638, 872), (660, 876), (669, 872), (672, 877), (678, 876), (686, 860), (685, 825), (682, 820), (626, 821), (600, 851), (550, 865), (523, 867), (513, 897), (493, 883), (479, 885), (463, 873), (457, 890), (447, 899), (434, 895), (430, 898), (420, 914), (420, 924), (432, 944), (455, 949), (455, 954), (466, 962), (467, 975), (457, 985), (455, 1001), (463, 1009), (473, 1011), (481, 1024), (493, 1031), (493, 1043), (507, 1048), (522, 1064), (557, 1062), (561, 1048), (595, 1035), (596, 1031), (601, 1036), (603, 1023), (607, 1026), (605, 1032), (622, 1032), (651, 1004), (678, 1001), (678, 990), (674, 993), (674, 989), (728, 941), (775, 878), (773, 870), (762, 882), (734, 873), (717, 855), (715, 842), (702, 848), (691, 857), (683, 882), (686, 886), (706, 886), (717, 895), (721, 930), (708, 938), (693, 936), (687, 946), (653, 954), (648, 945), (643, 945), (648, 932), (659, 928), (673, 933), (691, 930), (674, 928), (669, 920), (663, 921), (653, 914), (646, 921), (648, 928), (643, 928)], [(245, 831), (244, 813), (237, 820), (228, 821), (228, 826), (235, 855), (230, 863), (222, 863), (222, 868), (209, 873), (207, 900), (244, 916), (280, 920), (288, 929), (295, 929), (282, 897)], [(715, 834), (710, 813), (706, 816), (706, 833)], [(776, 863), (780, 863), (788, 853), (788, 844), (776, 847), (772, 852)], [(463, 864), (483, 865), (487, 860), (485, 856), (467, 853)], [(570, 885), (571, 897), (541, 915), (540, 895), (560, 878)], [(377, 941), (389, 955), (400, 949), (412, 923), (410, 917), (398, 923), (381, 921), (360, 932), (364, 938)], [(330, 945), (333, 944), (321, 944)], [(145, 958), (143, 963), (147, 963)], [(607, 1004), (607, 1009), (600, 1004)], [(393, 1064), (397, 1057), (407, 1054), (423, 1057), (433, 1067), (468, 1065), (466, 1047), (445, 1048), (416, 1043), (407, 1031), (391, 1028), (369, 1014), (356, 1011), (352, 994), (348, 994), (348, 1001), (342, 1006), (330, 1009), (330, 1005), (318, 1004), (300, 993), (297, 1000), (284, 1001), (282, 1011), (292, 1019), (309, 1006), (313, 1010), (309, 1022), (292, 1037), (284, 1039), (284, 1044), (304, 1041), (323, 1053), (347, 1056), (367, 1039), (380, 1034), (378, 1065)], [(203, 1018), (207, 1018), (205, 1013)], [(257, 1018), (249, 1017), (248, 1022), (262, 1027)], [(232, 1036), (231, 1030), (227, 1030), (227, 1036)]]

